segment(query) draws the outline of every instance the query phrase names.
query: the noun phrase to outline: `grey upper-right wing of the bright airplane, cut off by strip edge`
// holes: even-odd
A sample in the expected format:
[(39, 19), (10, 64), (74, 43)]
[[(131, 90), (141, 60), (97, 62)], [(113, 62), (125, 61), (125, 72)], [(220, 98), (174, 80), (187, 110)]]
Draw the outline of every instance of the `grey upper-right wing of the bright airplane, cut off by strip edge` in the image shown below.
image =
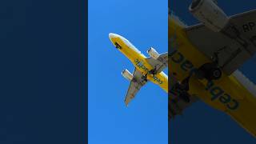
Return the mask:
[(168, 53), (160, 54), (158, 59), (146, 58), (146, 61), (155, 68), (157, 73), (161, 73), (168, 65)]

